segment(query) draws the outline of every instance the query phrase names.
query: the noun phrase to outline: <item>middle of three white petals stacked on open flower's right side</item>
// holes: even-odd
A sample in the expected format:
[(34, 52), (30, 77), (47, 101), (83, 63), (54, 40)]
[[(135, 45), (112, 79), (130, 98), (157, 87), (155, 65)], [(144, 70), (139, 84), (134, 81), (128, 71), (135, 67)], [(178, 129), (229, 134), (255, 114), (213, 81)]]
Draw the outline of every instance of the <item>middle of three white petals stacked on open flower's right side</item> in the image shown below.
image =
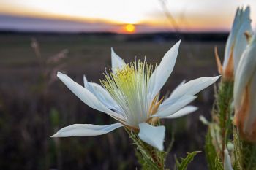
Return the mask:
[(176, 102), (167, 105), (165, 109), (159, 109), (159, 111), (153, 115), (153, 117), (167, 117), (178, 112), (179, 109), (185, 107), (187, 104), (195, 100), (196, 96), (182, 96)]

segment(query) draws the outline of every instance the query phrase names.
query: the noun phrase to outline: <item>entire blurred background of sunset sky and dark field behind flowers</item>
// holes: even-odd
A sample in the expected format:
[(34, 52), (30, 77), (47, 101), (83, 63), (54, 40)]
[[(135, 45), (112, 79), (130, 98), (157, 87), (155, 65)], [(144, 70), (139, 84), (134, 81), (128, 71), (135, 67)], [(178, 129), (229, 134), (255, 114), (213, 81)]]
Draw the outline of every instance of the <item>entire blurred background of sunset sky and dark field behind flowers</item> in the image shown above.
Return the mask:
[[(33, 1), (0, 0), (0, 169), (135, 169), (132, 142), (120, 128), (103, 136), (51, 139), (73, 123), (107, 125), (113, 119), (83, 104), (56, 72), (83, 83), (98, 82), (110, 68), (110, 47), (125, 61), (153, 63), (181, 39), (173, 74), (162, 90), (170, 93), (182, 80), (217, 75), (214, 45), (223, 57), (236, 7), (255, 1)], [(254, 26), (255, 23), (252, 24)], [(167, 158), (203, 151), (214, 87), (193, 103), (198, 111), (165, 120), (165, 145), (174, 131)], [(204, 152), (189, 169), (207, 169)]]

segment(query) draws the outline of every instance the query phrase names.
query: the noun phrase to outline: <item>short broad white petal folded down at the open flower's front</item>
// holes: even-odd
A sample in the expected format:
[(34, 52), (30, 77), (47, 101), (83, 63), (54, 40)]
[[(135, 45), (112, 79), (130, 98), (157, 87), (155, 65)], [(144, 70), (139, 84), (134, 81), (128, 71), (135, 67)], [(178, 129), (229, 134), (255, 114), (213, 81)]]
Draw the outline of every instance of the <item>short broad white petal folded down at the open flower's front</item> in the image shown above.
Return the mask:
[(156, 147), (158, 150), (164, 150), (165, 126), (153, 126), (148, 123), (139, 124), (140, 133), (138, 136), (143, 142)]

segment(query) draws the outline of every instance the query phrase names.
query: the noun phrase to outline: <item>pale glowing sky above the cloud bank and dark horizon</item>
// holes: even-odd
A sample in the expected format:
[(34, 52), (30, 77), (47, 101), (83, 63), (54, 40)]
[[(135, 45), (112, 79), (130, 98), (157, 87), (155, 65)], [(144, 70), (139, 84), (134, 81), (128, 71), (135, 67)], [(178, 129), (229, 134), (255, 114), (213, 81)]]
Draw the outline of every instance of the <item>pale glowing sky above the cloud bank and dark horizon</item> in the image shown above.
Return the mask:
[[(118, 27), (127, 23), (136, 24), (140, 31), (170, 29), (172, 25), (165, 16), (161, 1), (0, 0), (0, 15), (43, 18), (42, 22), (37, 21), (41, 24), (48, 24), (45, 19), (75, 21), (78, 25), (84, 24), (83, 28), (86, 24), (93, 28), (99, 23), (98, 27), (102, 28), (102, 31), (104, 31), (104, 26), (108, 27), (105, 28), (107, 30), (118, 31)], [(256, 23), (255, 0), (166, 0), (166, 3), (167, 10), (183, 31), (228, 30), (233, 22), (236, 8), (246, 5), (251, 7), (251, 18), (254, 21), (252, 26)], [(24, 18), (21, 19), (24, 20)], [(12, 25), (18, 27), (22, 25), (23, 20), (15, 18), (15, 20), (8, 21), (0, 17), (0, 27), (12, 27)], [(37, 24), (33, 26), (35, 25)], [(29, 25), (23, 28), (26, 26)], [(49, 24), (48, 27), (50, 28)]]

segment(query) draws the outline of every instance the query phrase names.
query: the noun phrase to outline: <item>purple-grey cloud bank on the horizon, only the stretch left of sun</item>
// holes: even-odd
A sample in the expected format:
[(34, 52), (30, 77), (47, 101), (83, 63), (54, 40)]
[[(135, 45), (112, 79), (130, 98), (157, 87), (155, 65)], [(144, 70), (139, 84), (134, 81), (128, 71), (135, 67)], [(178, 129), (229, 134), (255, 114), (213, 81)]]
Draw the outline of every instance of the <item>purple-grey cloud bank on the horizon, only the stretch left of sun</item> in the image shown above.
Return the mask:
[(0, 15), (0, 29), (10, 31), (53, 31), (53, 32), (102, 32), (118, 31), (118, 26), (108, 23), (91, 23), (71, 20)]

